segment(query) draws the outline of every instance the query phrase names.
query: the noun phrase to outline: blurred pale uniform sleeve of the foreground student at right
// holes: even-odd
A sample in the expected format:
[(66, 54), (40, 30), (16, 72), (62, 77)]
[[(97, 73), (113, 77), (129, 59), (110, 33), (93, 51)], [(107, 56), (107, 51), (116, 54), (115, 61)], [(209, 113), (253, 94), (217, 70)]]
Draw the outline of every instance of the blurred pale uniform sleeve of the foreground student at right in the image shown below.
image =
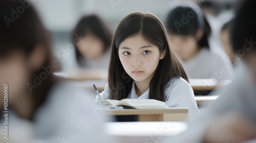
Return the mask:
[(221, 115), (237, 112), (256, 125), (256, 83), (252, 81), (249, 69), (242, 68), (237, 77), (230, 83), (221, 96), (213, 102), (201, 117), (188, 126), (188, 130), (174, 137), (166, 137), (167, 142), (202, 142), (209, 122)]

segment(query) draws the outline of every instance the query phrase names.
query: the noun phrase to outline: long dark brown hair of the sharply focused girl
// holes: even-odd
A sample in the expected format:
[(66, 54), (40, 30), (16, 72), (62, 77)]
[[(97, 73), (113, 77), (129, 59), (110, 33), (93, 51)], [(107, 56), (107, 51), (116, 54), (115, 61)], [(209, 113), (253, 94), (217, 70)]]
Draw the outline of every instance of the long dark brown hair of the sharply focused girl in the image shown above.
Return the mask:
[(135, 12), (125, 16), (119, 23), (111, 45), (111, 59), (109, 66), (110, 99), (122, 100), (129, 95), (133, 79), (125, 72), (118, 48), (126, 38), (141, 34), (146, 41), (156, 45), (159, 52), (166, 55), (158, 63), (155, 74), (150, 82), (149, 99), (165, 101), (164, 94), (167, 83), (172, 78), (183, 78), (187, 82), (186, 73), (177, 59), (167, 38), (166, 29), (161, 20), (153, 14)]

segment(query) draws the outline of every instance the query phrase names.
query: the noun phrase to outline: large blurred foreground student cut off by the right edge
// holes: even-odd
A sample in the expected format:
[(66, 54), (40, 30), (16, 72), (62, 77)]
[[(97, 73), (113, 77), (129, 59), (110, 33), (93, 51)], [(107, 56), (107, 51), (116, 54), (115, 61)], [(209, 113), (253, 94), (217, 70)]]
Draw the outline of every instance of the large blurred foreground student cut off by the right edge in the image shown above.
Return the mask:
[(240, 74), (187, 131), (162, 142), (256, 141), (256, 19), (251, 18), (256, 16), (255, 4), (244, 1), (231, 27), (233, 51), (244, 53)]

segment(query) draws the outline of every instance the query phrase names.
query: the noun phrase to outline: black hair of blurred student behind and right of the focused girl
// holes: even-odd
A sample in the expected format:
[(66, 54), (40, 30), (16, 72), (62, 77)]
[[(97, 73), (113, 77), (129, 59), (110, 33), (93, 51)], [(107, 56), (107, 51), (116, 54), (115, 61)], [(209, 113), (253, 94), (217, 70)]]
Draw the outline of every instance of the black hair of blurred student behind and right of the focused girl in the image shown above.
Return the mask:
[[(209, 49), (208, 37), (211, 32), (210, 25), (206, 18), (203, 17), (200, 7), (196, 4), (194, 4), (194, 6), (196, 6), (199, 11), (196, 12), (186, 4), (182, 4), (170, 10), (166, 18), (166, 27), (172, 34), (191, 36), (196, 36), (197, 31), (201, 28), (204, 34), (198, 41), (199, 48), (205, 47)], [(184, 16), (189, 20), (187, 23), (184, 23)]]

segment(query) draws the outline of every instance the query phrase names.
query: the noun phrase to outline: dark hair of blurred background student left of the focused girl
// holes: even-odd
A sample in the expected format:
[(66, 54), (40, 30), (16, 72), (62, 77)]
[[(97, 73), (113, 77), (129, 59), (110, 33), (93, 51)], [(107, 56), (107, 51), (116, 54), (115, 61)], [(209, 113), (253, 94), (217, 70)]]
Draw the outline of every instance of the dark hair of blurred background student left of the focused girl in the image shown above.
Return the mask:
[[(72, 33), (72, 41), (77, 38), (77, 36), (86, 36), (86, 34), (90, 32), (97, 38), (103, 41), (104, 44), (104, 52), (109, 49), (111, 45), (112, 33), (109, 28), (106, 26), (105, 22), (98, 17), (97, 15), (87, 15), (83, 16), (77, 26), (75, 27)], [(83, 60), (84, 57), (77, 50), (77, 45), (75, 44), (75, 52), (76, 52), (76, 60), (80, 67), (84, 67)]]

